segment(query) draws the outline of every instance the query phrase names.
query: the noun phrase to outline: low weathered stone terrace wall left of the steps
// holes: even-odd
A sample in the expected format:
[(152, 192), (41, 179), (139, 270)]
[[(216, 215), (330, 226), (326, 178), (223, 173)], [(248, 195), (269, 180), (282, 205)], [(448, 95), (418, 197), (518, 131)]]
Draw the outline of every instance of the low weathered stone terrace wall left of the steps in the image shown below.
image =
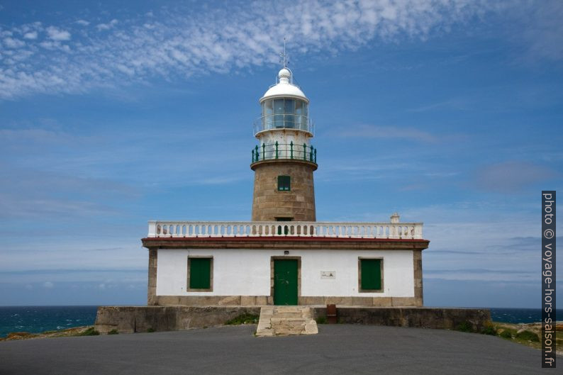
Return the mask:
[(100, 306), (95, 328), (100, 333), (188, 330), (225, 323), (238, 315), (260, 315), (259, 307)]

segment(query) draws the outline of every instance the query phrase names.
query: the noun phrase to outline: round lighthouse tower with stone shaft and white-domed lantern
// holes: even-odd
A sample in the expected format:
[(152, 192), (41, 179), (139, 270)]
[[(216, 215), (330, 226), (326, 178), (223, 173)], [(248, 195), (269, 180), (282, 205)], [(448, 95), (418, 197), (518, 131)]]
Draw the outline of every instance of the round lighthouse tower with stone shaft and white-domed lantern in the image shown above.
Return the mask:
[(317, 150), (311, 145), (309, 99), (285, 64), (260, 106), (250, 164), (255, 172), (252, 221), (316, 221)]

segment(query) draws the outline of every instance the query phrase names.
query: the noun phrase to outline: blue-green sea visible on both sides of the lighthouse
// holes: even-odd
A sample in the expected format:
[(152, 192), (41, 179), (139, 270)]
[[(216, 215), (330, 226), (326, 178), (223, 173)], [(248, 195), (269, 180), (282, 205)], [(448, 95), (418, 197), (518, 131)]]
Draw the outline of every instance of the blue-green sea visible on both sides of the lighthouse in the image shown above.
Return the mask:
[[(97, 306), (0, 306), (0, 337), (9, 332), (39, 333), (48, 330), (93, 325)], [(542, 320), (540, 308), (489, 308), (491, 318), (503, 323), (535, 323)], [(563, 310), (557, 309), (558, 320)]]

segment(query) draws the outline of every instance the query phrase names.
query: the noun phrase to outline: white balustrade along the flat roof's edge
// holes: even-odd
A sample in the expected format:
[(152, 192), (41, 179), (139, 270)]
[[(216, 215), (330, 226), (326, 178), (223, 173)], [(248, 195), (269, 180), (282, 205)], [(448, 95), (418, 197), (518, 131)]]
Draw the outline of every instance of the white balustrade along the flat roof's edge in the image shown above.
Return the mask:
[(149, 221), (148, 237), (329, 237), (422, 240), (423, 223)]

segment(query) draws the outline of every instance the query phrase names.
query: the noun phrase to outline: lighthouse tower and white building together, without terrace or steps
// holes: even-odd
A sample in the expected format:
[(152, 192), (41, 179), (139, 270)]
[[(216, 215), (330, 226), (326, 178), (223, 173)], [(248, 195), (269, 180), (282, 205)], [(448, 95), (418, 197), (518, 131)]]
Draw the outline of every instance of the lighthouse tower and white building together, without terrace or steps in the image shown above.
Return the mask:
[(422, 223), (316, 221), (308, 104), (286, 67), (260, 99), (252, 221), (149, 222), (149, 305), (423, 306)]

